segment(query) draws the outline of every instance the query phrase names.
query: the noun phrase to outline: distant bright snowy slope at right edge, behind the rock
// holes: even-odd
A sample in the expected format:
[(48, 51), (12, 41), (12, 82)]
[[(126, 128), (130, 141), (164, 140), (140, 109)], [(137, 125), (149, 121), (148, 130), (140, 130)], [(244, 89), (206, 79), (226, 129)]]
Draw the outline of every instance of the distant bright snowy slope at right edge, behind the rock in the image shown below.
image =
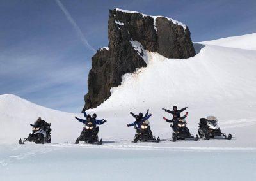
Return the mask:
[(219, 45), (223, 47), (241, 48), (245, 50), (256, 50), (256, 33), (242, 36), (232, 36), (218, 40), (204, 41), (202, 43), (209, 45)]

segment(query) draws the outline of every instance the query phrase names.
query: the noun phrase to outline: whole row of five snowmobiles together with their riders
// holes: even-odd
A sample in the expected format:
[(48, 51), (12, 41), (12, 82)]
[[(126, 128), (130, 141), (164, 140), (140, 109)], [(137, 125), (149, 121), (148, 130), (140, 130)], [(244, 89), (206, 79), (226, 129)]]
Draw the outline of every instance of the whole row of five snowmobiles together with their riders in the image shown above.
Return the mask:
[[(170, 127), (172, 128), (172, 140), (170, 141), (177, 141), (177, 140), (195, 140), (198, 141), (199, 138), (204, 140), (209, 140), (211, 138), (225, 138), (228, 140), (232, 139), (232, 134), (228, 134), (228, 136), (221, 132), (220, 127), (218, 126), (218, 120), (214, 116), (209, 116), (207, 118), (201, 118), (199, 121), (199, 129), (198, 134), (194, 136), (190, 133), (187, 122), (185, 118), (188, 115), (188, 112), (185, 113), (183, 117), (180, 117), (180, 113), (186, 110), (188, 107), (185, 107), (181, 110), (177, 109), (177, 106), (173, 106), (173, 110), (166, 110), (162, 108), (165, 112), (171, 113), (173, 118), (171, 120), (166, 119), (163, 117), (166, 122), (172, 123)], [(97, 144), (102, 145), (102, 139), (99, 139), (99, 126), (107, 122), (104, 119), (96, 119), (97, 115), (91, 115), (84, 113), (84, 117), (86, 119), (79, 119), (75, 117), (79, 122), (84, 124), (83, 130), (81, 135), (76, 139), (75, 143), (78, 144), (79, 142), (90, 143), (90, 144)], [(160, 138), (155, 137), (152, 134), (150, 129), (150, 122), (148, 119), (151, 117), (151, 113), (147, 110), (147, 113), (143, 116), (143, 113), (139, 113), (138, 115), (134, 115), (134, 113), (130, 112), (130, 114), (136, 119), (135, 122), (131, 124), (127, 124), (127, 127), (134, 126), (136, 129), (136, 134), (134, 136), (133, 143), (140, 142), (156, 142), (159, 143)], [(22, 139), (20, 138), (19, 144), (24, 144), (24, 142), (35, 142), (36, 144), (44, 144), (44, 143), (51, 143), (51, 123), (48, 124), (40, 117), (36, 120), (35, 124), (30, 124), (32, 126), (32, 132), (29, 134), (28, 138)]]

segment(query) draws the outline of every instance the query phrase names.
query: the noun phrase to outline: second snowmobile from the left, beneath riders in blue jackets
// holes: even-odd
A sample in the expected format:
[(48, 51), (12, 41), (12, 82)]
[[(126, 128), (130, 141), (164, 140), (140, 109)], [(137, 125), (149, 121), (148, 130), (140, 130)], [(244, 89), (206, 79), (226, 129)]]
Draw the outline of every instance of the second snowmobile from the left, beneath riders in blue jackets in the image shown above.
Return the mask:
[(76, 139), (75, 144), (84, 141), (84, 143), (102, 145), (102, 139), (99, 140), (98, 132), (98, 126), (92, 122), (86, 122), (85, 127), (83, 128), (81, 135)]

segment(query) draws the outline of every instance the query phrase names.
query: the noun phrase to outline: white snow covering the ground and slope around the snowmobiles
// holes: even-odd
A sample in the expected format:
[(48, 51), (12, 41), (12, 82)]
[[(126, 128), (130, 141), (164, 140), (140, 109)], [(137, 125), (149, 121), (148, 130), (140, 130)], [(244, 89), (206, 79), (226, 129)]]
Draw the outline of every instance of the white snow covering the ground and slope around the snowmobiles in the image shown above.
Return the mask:
[[(234, 46), (243, 39), (232, 38)], [(182, 60), (166, 59), (132, 41), (147, 67), (124, 75), (111, 97), (87, 112), (108, 120), (99, 126), (103, 145), (74, 145), (83, 127), (74, 116), (83, 118), (82, 113), (1, 95), (0, 180), (255, 180), (256, 51), (248, 48), (253, 41), (239, 49), (218, 41), (195, 43), (196, 56)], [(171, 142), (163, 116), (172, 116), (161, 108), (173, 105), (188, 106), (191, 133), (197, 134), (200, 117), (214, 115), (221, 131), (234, 138)], [(126, 126), (134, 122), (129, 112), (147, 108), (152, 133), (161, 142), (131, 143), (135, 130)], [(52, 143), (19, 145), (38, 116), (51, 122)]]

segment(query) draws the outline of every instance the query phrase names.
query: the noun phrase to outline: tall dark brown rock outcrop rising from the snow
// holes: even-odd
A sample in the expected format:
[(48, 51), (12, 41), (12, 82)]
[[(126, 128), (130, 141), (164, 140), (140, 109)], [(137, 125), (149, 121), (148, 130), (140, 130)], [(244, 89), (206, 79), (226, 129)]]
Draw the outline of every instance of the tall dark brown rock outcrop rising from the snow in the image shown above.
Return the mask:
[(95, 108), (108, 99), (110, 89), (122, 82), (122, 75), (147, 66), (143, 52), (136, 51), (131, 41), (138, 41), (145, 50), (167, 58), (184, 59), (195, 55), (188, 27), (184, 29), (164, 17), (155, 19), (156, 22), (141, 13), (109, 10), (108, 50), (99, 49), (92, 57), (84, 110)]

